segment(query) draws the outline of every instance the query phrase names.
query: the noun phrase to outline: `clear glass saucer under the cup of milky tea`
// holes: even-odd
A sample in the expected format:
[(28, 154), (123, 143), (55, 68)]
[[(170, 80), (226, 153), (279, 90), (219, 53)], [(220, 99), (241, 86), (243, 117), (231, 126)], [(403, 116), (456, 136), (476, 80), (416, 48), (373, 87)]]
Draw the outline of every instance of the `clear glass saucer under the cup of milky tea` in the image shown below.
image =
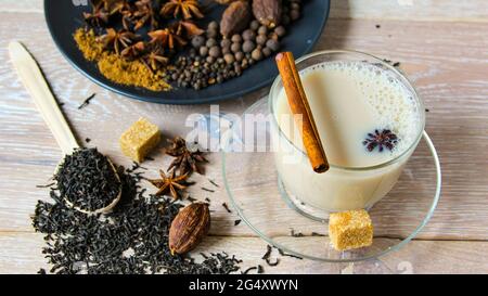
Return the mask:
[[(268, 116), (267, 100), (256, 102), (243, 117), (246, 114)], [(254, 139), (271, 138), (269, 124), (254, 125), (253, 129)], [(326, 219), (305, 214), (286, 194), (272, 152), (254, 143), (254, 152), (230, 152), (231, 141), (223, 140), (221, 153), (230, 203), (254, 232), (286, 254), (330, 262), (376, 258), (410, 242), (428, 222), (439, 201), (439, 159), (424, 131), (395, 188), (369, 210), (374, 226), (373, 245), (337, 252), (330, 243)], [(265, 142), (270, 145), (270, 141)]]

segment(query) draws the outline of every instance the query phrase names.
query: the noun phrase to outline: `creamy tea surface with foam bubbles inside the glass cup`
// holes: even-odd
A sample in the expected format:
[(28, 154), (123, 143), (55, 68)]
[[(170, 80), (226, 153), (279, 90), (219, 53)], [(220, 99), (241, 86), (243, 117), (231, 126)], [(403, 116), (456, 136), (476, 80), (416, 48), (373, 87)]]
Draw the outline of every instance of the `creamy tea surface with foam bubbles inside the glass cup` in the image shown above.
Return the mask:
[[(300, 77), (331, 164), (378, 165), (398, 156), (416, 140), (419, 106), (412, 93), (381, 67), (362, 62), (326, 62), (301, 70)], [(303, 150), (291, 114), (282, 89), (277, 119), (286, 137)], [(396, 136), (393, 149), (367, 149), (364, 141), (376, 130), (390, 130)]]

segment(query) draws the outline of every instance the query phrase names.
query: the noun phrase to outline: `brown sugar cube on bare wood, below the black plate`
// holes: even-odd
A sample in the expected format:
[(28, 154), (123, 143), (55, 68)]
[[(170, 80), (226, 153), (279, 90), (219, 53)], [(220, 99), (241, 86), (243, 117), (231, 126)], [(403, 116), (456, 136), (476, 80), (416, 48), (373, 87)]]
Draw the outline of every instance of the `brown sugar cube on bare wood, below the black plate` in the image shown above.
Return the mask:
[(121, 152), (137, 163), (144, 160), (147, 153), (160, 141), (157, 126), (140, 118), (120, 136)]

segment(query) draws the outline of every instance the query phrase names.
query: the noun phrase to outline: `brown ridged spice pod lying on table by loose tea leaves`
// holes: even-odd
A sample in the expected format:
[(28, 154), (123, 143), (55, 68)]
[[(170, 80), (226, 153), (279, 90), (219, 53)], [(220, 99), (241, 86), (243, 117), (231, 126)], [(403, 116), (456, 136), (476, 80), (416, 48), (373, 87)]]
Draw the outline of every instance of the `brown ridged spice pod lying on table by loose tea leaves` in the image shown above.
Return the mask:
[(171, 222), (169, 249), (171, 254), (185, 254), (195, 248), (210, 229), (208, 204), (193, 203), (184, 207)]

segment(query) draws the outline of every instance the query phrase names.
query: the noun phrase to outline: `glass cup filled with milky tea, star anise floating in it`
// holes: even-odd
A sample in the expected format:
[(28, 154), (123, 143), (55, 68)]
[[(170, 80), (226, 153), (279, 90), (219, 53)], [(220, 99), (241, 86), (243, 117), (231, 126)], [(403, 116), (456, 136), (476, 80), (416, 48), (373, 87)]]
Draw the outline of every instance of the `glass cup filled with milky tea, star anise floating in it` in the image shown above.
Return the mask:
[(313, 171), (282, 80), (269, 95), (271, 139), (282, 196), (301, 214), (371, 208), (397, 182), (425, 126), (409, 80), (381, 59), (322, 51), (296, 61), (330, 169)]

